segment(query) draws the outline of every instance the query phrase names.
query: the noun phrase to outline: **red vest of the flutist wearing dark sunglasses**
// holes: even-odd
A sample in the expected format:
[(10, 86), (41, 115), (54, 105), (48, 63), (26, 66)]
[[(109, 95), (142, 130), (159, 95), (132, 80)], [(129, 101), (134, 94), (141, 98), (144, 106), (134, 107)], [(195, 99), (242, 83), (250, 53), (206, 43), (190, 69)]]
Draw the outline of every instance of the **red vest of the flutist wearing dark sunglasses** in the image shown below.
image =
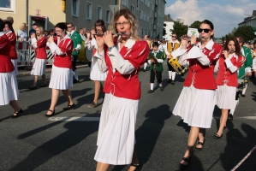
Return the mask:
[[(211, 42), (209, 42), (211, 44)], [(209, 44), (208, 43), (208, 44)], [(207, 46), (207, 45), (206, 45)], [(184, 86), (190, 86), (193, 84), (195, 88), (205, 89), (205, 90), (215, 90), (217, 89), (216, 80), (214, 78), (214, 67), (219, 56), (222, 54), (222, 46), (213, 43), (212, 47), (207, 46), (209, 49), (205, 48), (202, 53), (208, 57), (210, 60), (209, 66), (202, 65), (197, 59), (188, 59), (189, 70), (188, 76), (184, 81)]]

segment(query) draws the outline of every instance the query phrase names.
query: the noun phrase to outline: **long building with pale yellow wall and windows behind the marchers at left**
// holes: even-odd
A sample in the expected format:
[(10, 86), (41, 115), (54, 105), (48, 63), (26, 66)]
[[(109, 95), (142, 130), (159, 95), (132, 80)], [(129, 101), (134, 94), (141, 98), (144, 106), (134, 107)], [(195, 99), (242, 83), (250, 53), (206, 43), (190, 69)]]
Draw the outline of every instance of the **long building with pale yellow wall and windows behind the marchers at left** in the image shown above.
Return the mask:
[(91, 30), (98, 19), (109, 26), (114, 10), (131, 9), (140, 26), (140, 36), (163, 38), (165, 0), (1, 0), (0, 16), (14, 18), (17, 31), (22, 23), (28, 30), (34, 22), (50, 30), (58, 22), (71, 22)]

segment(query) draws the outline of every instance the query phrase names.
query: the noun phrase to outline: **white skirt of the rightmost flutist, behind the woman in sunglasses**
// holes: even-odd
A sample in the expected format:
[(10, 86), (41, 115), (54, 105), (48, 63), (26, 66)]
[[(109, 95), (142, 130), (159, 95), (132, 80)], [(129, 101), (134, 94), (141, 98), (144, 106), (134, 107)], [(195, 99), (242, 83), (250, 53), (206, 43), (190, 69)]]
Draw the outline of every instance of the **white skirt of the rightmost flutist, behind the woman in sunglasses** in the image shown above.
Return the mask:
[(219, 109), (235, 109), (236, 87), (217, 85), (216, 104)]

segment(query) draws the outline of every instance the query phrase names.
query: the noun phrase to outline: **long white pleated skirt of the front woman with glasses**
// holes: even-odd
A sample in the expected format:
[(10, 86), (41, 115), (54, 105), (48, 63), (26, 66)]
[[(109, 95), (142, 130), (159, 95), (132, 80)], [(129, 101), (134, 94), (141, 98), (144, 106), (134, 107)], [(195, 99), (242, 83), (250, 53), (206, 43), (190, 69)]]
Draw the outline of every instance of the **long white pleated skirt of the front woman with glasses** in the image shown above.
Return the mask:
[(105, 94), (98, 127), (97, 162), (124, 165), (132, 162), (139, 100)]

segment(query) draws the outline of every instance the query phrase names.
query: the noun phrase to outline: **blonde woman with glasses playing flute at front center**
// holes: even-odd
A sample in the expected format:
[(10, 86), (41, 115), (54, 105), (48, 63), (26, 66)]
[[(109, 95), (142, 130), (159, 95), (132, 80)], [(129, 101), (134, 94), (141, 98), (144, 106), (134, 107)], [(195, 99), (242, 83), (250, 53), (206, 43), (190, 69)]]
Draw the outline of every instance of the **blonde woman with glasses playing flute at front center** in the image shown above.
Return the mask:
[[(112, 32), (121, 35), (113, 40)], [(105, 70), (105, 61), (109, 73), (104, 84), (106, 95), (98, 127), (96, 170), (108, 170), (110, 164), (131, 164), (128, 170), (135, 170), (140, 167), (134, 149), (141, 93), (138, 74), (149, 47), (146, 41), (140, 40), (136, 17), (129, 9), (114, 14), (110, 31), (103, 37), (97, 36), (97, 43), (98, 50), (93, 57), (98, 59), (101, 71)]]

